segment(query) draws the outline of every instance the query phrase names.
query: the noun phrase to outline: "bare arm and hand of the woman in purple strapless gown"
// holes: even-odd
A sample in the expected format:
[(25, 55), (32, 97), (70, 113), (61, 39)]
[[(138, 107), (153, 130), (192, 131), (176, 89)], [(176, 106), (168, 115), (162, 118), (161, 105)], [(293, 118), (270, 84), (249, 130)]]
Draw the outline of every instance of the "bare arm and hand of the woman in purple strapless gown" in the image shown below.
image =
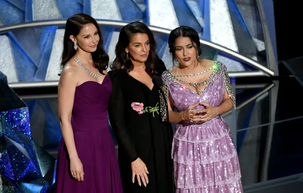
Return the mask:
[(58, 111), (60, 126), (70, 159), (70, 171), (72, 175), (76, 175), (78, 181), (83, 181), (83, 166), (77, 154), (71, 125), (71, 115), (77, 84), (78, 82), (75, 78), (74, 67), (66, 66), (63, 68), (58, 84)]

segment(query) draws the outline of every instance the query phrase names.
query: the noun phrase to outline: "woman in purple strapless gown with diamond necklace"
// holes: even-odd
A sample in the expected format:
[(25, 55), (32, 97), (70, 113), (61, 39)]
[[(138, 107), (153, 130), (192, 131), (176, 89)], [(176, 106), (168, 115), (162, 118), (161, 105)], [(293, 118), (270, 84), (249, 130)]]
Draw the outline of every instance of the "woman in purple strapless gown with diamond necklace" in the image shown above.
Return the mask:
[(58, 108), (62, 135), (55, 193), (122, 193), (117, 155), (107, 119), (111, 81), (101, 31), (89, 15), (65, 27)]

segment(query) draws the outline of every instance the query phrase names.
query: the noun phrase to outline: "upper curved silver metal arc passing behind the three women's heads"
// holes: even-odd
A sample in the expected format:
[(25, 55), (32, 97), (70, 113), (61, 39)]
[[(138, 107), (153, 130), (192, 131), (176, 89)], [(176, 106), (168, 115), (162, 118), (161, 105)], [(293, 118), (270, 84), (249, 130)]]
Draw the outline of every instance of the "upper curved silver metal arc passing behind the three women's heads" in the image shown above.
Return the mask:
[[(117, 20), (100, 20), (99, 19), (96, 21), (98, 22), (99, 25), (112, 26), (112, 27), (123, 27), (129, 23), (126, 21), (117, 21)], [(43, 21), (26, 22), (26, 23), (9, 25), (9, 26), (1, 26), (0, 33), (17, 30), (17, 29), (22, 29), (22, 28), (29, 28), (29, 27), (43, 27), (43, 26), (54, 26), (54, 25), (63, 26), (63, 25), (65, 25), (65, 23), (66, 23), (66, 20), (63, 20), (63, 19), (62, 20), (43, 20)], [(155, 27), (155, 26), (148, 26), (148, 27), (153, 32), (158, 32), (158, 33), (162, 33), (165, 35), (169, 35), (170, 31), (171, 31), (169, 29), (164, 29), (161, 27)], [(263, 66), (262, 64), (259, 64), (256, 61), (235, 52), (234, 50), (228, 49), (224, 46), (221, 46), (221, 45), (213, 43), (213, 42), (206, 41), (204, 39), (200, 39), (200, 43), (205, 46), (209, 46), (213, 49), (219, 50), (220, 52), (225, 53), (229, 56), (233, 56), (234, 58), (237, 58), (238, 60), (241, 60), (247, 64), (250, 64), (251, 66), (255, 67), (256, 69), (264, 72), (265, 74), (267, 74), (269, 76), (273, 76), (275, 74), (275, 72), (273, 70), (269, 69), (268, 67)]]

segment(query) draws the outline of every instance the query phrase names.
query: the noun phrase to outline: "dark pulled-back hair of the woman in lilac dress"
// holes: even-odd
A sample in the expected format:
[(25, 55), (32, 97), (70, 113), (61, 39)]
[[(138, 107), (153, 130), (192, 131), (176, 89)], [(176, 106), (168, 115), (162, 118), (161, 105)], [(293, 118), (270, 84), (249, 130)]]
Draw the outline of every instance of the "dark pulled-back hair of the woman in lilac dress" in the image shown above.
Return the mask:
[[(172, 55), (173, 64), (176, 61), (175, 42), (176, 42), (176, 39), (181, 36), (185, 37), (185, 38), (186, 37), (189, 38), (190, 41), (192, 42), (192, 44), (196, 43), (196, 46), (194, 44), (193, 44), (193, 46), (195, 47), (196, 51), (198, 52), (198, 56), (200, 56), (202, 53), (202, 49), (200, 48), (200, 37), (199, 37), (197, 31), (188, 26), (177, 27), (176, 29), (174, 29), (173, 31), (170, 32), (170, 35), (168, 37), (168, 47), (169, 47), (169, 52)], [(199, 62), (199, 60), (198, 60), (198, 62)]]

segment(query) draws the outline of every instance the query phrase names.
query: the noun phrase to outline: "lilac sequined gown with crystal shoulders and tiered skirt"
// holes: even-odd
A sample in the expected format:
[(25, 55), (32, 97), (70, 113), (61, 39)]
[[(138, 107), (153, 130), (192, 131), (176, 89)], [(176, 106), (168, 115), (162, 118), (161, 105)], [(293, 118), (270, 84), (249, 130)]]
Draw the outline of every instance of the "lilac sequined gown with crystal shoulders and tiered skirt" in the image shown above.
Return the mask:
[[(198, 102), (219, 106), (225, 92), (226, 67), (216, 62), (218, 71), (211, 77), (201, 96), (189, 93), (163, 74), (164, 84), (179, 111)], [(214, 78), (214, 79), (213, 79)], [(211, 82), (213, 83), (211, 84)], [(229, 80), (229, 79), (228, 79)], [(229, 81), (226, 81), (230, 88)], [(181, 85), (181, 84), (180, 84)], [(167, 90), (168, 91), (168, 90)], [(194, 110), (201, 110), (198, 106)], [(178, 193), (242, 193), (237, 151), (230, 129), (220, 115), (207, 122), (182, 121), (176, 126), (172, 146), (174, 183)]]

